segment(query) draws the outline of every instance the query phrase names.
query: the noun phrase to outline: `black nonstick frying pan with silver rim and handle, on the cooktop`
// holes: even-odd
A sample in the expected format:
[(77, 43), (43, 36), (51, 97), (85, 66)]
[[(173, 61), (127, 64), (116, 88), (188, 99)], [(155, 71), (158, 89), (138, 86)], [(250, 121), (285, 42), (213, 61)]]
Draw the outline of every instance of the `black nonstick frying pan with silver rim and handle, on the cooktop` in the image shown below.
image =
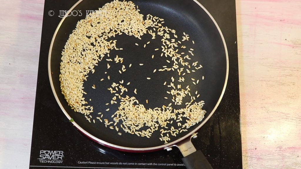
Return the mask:
[[(109, 0), (80, 0), (73, 5), (57, 26), (48, 57), (48, 75), (57, 103), (67, 118), (72, 119), (72, 124), (79, 131), (101, 145), (127, 152), (170, 150), (173, 146), (176, 146), (182, 152), (184, 156), (182, 160), (188, 169), (212, 168), (202, 152), (194, 148), (191, 138), (196, 137), (197, 131), (213, 115), (222, 99), (228, 79), (228, 52), (217, 23), (196, 0), (134, 0), (132, 2), (139, 6), (140, 13), (144, 16), (152, 14), (163, 18), (164, 26), (175, 29), (180, 37), (182, 32), (189, 35), (190, 40), (185, 43), (188, 49), (194, 49), (194, 57), (191, 57), (191, 63), (198, 61), (203, 68), (194, 74), (187, 73), (185, 75), (187, 80), (182, 85), (190, 85), (191, 91), (198, 91), (200, 97), (195, 100), (196, 102), (201, 100), (205, 102), (203, 109), (206, 110), (206, 114), (202, 121), (188, 128), (188, 131), (179, 133), (176, 137), (170, 137), (171, 140), (164, 144), (159, 140), (159, 130), (155, 131), (150, 138), (138, 137), (124, 132), (119, 136), (117, 131), (106, 128), (103, 123), (90, 123), (81, 113), (74, 112), (68, 106), (64, 95), (61, 93), (59, 81), (61, 52), (69, 35), (75, 29), (76, 23), (85, 18), (86, 11), (98, 10), (98, 8), (109, 2)], [(76, 15), (72, 15), (74, 14), (72, 11), (77, 11)], [(120, 74), (118, 68), (108, 70), (107, 62), (101, 61), (99, 66), (95, 67), (95, 73), (90, 72), (88, 74), (88, 80), (85, 81), (83, 86), (87, 93), (85, 100), (91, 99), (88, 104), (93, 105), (94, 112), (104, 112), (110, 106), (110, 111), (103, 113), (104, 118), (110, 119), (111, 115), (118, 110), (117, 104), (105, 105), (105, 103), (108, 103), (112, 98), (111, 93), (107, 92), (107, 86), (110, 86), (112, 82), (121, 81), (121, 79), (131, 83), (128, 87), (129, 91), (137, 89), (138, 94), (135, 95), (137, 100), (148, 100), (147, 104), (144, 103), (147, 109), (168, 105), (170, 100), (164, 99), (168, 95), (165, 93), (166, 86), (159, 84), (168, 81), (171, 76), (178, 77), (178, 72), (165, 71), (160, 73), (157, 71), (153, 73), (154, 66), (166, 64), (166, 58), (159, 56), (160, 51), (153, 50), (156, 45), (161, 46), (161, 38), (152, 40), (147, 48), (141, 47), (142, 45), (138, 47), (135, 45), (135, 43), (146, 44), (150, 39), (151, 36), (147, 34), (143, 35), (141, 40), (128, 35), (119, 35), (112, 39), (117, 40), (117, 45), (122, 47), (123, 50), (112, 50), (110, 55), (124, 57), (124, 65), (132, 64), (135, 66), (131, 70)], [(192, 40), (194, 43), (191, 43)], [(154, 59), (150, 57), (152, 54), (156, 56)], [(143, 63), (144, 66), (138, 66), (140, 63)], [(104, 72), (107, 72), (107, 74), (104, 74)], [(101, 78), (106, 78), (107, 75), (111, 75), (110, 80), (100, 81)], [(151, 80), (146, 79), (146, 77), (151, 77)], [(190, 78), (200, 79), (200, 83), (194, 85), (192, 81), (188, 80)], [(96, 89), (91, 88), (93, 85), (96, 86)]]

